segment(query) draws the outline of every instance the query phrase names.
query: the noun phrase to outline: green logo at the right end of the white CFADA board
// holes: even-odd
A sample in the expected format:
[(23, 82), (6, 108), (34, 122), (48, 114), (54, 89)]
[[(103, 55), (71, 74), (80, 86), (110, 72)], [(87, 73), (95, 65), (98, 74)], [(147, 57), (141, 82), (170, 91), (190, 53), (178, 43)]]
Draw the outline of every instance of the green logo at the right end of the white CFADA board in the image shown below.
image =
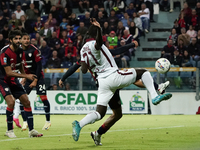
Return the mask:
[(130, 111), (143, 111), (145, 109), (145, 101), (139, 92), (134, 94), (130, 100)]

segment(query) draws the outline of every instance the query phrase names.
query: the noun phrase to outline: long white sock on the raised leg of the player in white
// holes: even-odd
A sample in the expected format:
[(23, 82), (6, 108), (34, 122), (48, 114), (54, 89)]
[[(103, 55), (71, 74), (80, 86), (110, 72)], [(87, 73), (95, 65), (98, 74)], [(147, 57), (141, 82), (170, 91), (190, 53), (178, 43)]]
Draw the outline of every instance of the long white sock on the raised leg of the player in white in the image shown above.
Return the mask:
[(144, 72), (141, 79), (142, 79), (143, 84), (149, 91), (151, 98), (153, 99), (156, 96), (158, 96), (158, 94), (154, 88), (153, 78), (151, 77), (150, 72), (149, 71)]

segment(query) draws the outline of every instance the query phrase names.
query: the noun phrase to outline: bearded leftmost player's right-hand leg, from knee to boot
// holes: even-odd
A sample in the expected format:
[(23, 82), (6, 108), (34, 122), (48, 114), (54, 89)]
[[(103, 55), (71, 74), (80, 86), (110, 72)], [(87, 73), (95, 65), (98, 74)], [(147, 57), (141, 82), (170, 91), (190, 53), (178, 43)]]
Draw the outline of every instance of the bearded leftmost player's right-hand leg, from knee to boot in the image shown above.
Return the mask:
[(33, 127), (33, 114), (30, 105), (30, 101), (28, 99), (27, 94), (23, 94), (20, 96), (19, 100), (24, 106), (24, 112), (27, 117), (28, 127), (29, 127), (29, 136), (30, 137), (41, 137), (43, 136), (42, 133), (38, 133)]

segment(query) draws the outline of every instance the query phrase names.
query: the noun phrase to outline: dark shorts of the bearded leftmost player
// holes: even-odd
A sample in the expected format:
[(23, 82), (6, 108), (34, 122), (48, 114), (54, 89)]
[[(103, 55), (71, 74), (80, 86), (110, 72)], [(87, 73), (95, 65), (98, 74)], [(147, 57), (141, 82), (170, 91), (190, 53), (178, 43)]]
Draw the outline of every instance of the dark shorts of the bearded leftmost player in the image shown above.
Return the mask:
[(7, 95), (13, 95), (16, 99), (19, 99), (21, 95), (26, 94), (25, 89), (19, 83), (18, 79), (15, 79), (15, 82), (13, 83), (7, 83), (6, 81), (0, 79), (0, 92), (4, 98)]

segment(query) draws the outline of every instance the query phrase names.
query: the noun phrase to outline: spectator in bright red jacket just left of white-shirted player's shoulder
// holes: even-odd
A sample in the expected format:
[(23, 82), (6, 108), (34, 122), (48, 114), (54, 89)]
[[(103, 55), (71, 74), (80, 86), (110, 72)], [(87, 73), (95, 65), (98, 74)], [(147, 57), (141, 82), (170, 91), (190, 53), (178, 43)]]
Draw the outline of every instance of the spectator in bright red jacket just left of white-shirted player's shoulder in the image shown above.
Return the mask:
[(65, 47), (65, 60), (72, 64), (76, 61), (77, 49), (73, 46), (73, 41), (68, 40), (68, 45)]

